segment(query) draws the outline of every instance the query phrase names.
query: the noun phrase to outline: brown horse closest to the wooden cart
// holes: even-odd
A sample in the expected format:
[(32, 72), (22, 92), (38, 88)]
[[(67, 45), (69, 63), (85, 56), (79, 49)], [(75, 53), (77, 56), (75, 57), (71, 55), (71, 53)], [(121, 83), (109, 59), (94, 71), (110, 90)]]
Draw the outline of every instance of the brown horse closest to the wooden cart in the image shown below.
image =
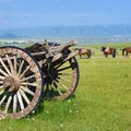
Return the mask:
[(82, 55), (86, 55), (87, 58), (91, 58), (92, 51), (86, 48), (75, 48), (74, 50), (79, 50), (80, 58), (82, 58)]

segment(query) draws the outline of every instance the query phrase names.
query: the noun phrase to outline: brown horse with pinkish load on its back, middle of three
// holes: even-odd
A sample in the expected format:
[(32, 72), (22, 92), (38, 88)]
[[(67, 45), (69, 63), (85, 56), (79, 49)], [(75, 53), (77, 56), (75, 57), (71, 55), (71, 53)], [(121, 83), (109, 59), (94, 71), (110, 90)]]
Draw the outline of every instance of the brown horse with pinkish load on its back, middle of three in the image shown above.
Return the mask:
[(108, 57), (108, 55), (111, 55), (112, 58), (116, 57), (116, 49), (115, 48), (109, 48), (108, 47), (108, 51), (106, 49), (107, 49), (107, 47), (102, 47), (102, 49), (100, 49), (100, 51), (104, 52), (104, 55), (105, 55), (106, 58)]

